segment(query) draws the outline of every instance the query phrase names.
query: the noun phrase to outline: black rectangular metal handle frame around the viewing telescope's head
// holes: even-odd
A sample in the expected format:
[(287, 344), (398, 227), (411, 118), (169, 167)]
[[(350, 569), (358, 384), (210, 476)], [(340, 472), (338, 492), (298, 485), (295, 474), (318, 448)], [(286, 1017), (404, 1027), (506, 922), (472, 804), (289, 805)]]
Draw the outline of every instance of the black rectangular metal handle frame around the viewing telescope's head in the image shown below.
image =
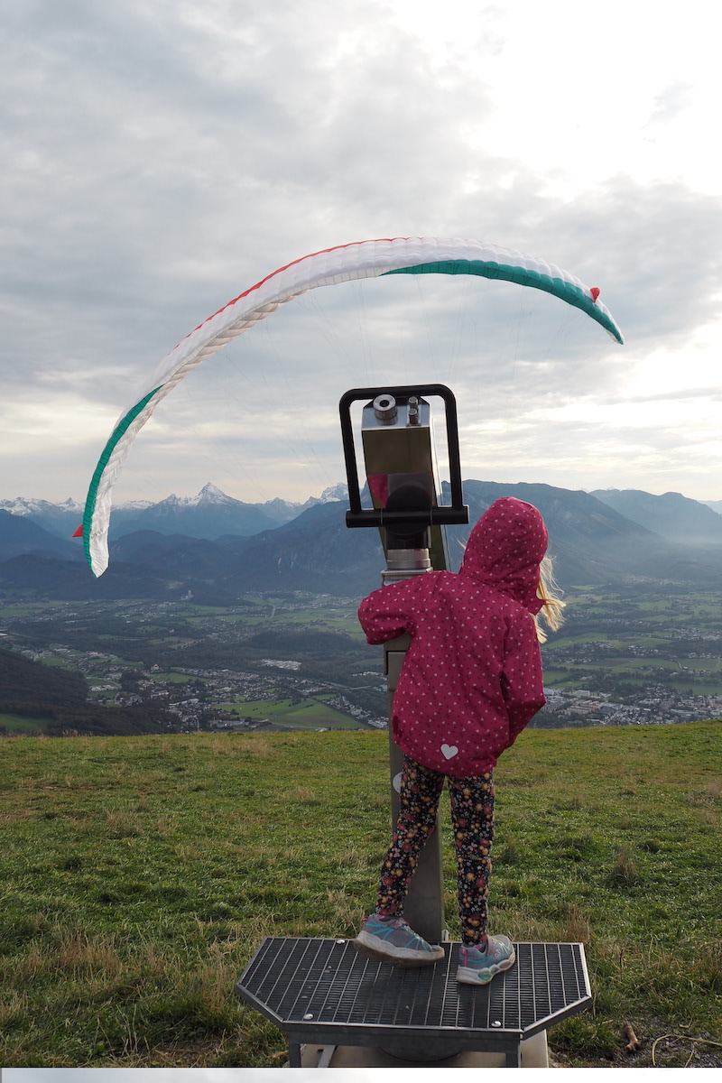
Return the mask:
[[(353, 426), (351, 423), (351, 405), (365, 399), (376, 399), (377, 395), (385, 393), (394, 399), (408, 400), (411, 395), (423, 397), (424, 395), (437, 395), (444, 400), (446, 409), (446, 440), (449, 454), (449, 473), (451, 486), (451, 504), (439, 505), (430, 509), (419, 509), (419, 511), (386, 511), (383, 508), (362, 508), (360, 488), (358, 485), (358, 465), (356, 462), (356, 448), (354, 446)], [(346, 391), (339, 402), (339, 413), (341, 415), (341, 439), (343, 442), (343, 457), (346, 464), (346, 477), (349, 479), (349, 507), (346, 512), (346, 526), (388, 526), (393, 531), (394, 525), (406, 523), (421, 523), (424, 526), (444, 525), (452, 523), (468, 523), (469, 508), (463, 503), (461, 492), (461, 460), (459, 457), (459, 421), (457, 416), (456, 399), (452, 391), (444, 383), (423, 383), (412, 386), (398, 386), (391, 388), (354, 388)]]

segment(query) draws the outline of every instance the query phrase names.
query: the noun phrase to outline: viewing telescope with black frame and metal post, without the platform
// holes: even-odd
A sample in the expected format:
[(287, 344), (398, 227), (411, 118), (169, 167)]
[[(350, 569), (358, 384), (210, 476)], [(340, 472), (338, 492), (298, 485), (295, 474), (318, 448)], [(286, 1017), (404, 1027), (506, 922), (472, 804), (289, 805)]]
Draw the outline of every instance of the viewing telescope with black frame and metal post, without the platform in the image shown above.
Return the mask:
[[(435, 454), (431, 407), (425, 396), (439, 397), (446, 413), (446, 438), (451, 504), (438, 501), (441, 482), (434, 470)], [(362, 412), (362, 443), (372, 507), (362, 507), (356, 449), (351, 420), (352, 403), (370, 400)], [(397, 583), (448, 566), (444, 526), (469, 522), (461, 494), (459, 431), (456, 400), (442, 383), (419, 387), (357, 388), (340, 402), (341, 434), (349, 479), (346, 526), (376, 526), (386, 554), (382, 583)], [(409, 645), (409, 637), (384, 643), (389, 714)], [(390, 730), (391, 805), (398, 815), (401, 749)], [(444, 931), (441, 834), (435, 831), (421, 854), (410, 884), (404, 914), (410, 926), (432, 943)]]

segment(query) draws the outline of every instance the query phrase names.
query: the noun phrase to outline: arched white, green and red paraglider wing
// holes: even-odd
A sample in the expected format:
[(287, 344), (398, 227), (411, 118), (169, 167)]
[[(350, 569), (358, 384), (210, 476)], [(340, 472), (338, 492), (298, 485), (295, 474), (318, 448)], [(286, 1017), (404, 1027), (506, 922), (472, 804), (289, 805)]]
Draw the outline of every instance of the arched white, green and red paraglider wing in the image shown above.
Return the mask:
[(136, 434), (184, 376), (261, 319), (318, 286), (390, 274), (471, 274), (531, 286), (581, 309), (622, 342), (599, 290), (560, 268), (512, 248), (478, 240), (395, 237), (362, 240), (305, 256), (279, 268), (200, 324), (160, 362), (120, 415), (93, 473), (83, 516), (86, 556), (94, 575), (108, 565), (113, 485)]

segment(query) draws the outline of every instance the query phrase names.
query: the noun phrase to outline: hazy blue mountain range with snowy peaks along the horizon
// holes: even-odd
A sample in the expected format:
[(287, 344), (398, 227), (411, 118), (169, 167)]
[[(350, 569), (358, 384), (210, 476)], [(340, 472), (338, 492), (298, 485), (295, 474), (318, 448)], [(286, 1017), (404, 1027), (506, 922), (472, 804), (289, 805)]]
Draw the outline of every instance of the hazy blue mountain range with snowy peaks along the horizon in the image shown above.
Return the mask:
[[(500, 496), (539, 508), (562, 586), (630, 576), (722, 582), (722, 516), (679, 493), (470, 480), (464, 499), (471, 523)], [(304, 504), (250, 505), (210, 483), (196, 497), (118, 508), (110, 566), (95, 580), (80, 543), (69, 537), (78, 505), (2, 501), (0, 597), (192, 597), (227, 604), (249, 590), (362, 595), (380, 582), (383, 552), (377, 531), (346, 529), (346, 508), (344, 485)], [(448, 529), (451, 567), (468, 533)]]

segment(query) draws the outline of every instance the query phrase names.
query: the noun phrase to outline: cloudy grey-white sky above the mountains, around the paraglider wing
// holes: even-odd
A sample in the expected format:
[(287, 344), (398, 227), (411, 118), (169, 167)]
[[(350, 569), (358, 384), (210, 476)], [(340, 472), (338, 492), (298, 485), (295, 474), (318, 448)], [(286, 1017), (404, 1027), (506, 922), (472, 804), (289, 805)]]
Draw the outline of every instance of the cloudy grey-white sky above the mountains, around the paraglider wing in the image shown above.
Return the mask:
[[(424, 10), (426, 9), (428, 10)], [(3, 5), (0, 498), (83, 499), (136, 383), (277, 266), (474, 237), (599, 286), (425, 276), (291, 302), (192, 374), (116, 498), (305, 499), (354, 387), (439, 380), (465, 477), (722, 498), (722, 75), (708, 3)]]

